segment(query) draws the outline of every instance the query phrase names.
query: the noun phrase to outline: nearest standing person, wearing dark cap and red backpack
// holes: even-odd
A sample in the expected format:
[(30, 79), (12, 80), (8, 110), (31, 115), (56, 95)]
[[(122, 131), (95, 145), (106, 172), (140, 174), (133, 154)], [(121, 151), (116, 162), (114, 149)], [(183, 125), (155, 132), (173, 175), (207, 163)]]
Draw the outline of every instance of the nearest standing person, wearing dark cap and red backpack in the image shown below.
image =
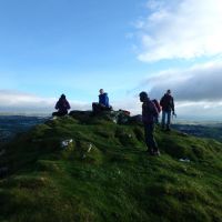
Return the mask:
[(154, 119), (158, 117), (159, 112), (155, 104), (149, 99), (147, 92), (140, 93), (140, 101), (142, 104), (142, 122), (144, 124), (145, 132), (145, 143), (148, 147), (148, 152), (151, 155), (160, 155), (158, 144), (153, 137), (154, 131)]

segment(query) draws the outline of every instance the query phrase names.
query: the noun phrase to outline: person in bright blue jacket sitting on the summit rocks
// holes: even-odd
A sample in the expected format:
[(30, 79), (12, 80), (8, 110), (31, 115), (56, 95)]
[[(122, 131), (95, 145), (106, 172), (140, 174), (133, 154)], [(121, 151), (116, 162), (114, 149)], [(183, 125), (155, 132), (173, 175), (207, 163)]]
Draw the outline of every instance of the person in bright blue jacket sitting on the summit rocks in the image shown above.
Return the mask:
[(109, 97), (108, 93), (104, 92), (103, 89), (100, 89), (100, 94), (99, 94), (99, 103), (93, 102), (92, 103), (92, 111), (94, 113), (101, 112), (101, 111), (111, 111), (112, 107), (109, 103)]

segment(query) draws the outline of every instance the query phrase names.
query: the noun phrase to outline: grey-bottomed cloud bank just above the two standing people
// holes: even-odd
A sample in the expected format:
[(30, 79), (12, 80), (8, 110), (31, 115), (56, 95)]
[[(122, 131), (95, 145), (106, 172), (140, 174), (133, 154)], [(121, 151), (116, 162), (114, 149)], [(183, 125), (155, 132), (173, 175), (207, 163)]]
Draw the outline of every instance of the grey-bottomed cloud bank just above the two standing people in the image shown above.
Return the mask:
[(151, 97), (171, 89), (179, 101), (221, 101), (222, 62), (196, 64), (185, 70), (168, 70), (144, 80), (140, 88), (149, 89)]

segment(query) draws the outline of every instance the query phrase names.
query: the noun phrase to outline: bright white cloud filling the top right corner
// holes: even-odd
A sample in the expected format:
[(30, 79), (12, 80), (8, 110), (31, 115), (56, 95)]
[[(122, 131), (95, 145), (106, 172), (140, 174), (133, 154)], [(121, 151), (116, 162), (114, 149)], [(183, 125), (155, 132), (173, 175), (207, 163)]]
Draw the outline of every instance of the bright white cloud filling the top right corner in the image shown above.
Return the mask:
[(137, 21), (139, 60), (193, 59), (222, 53), (221, 0), (148, 1)]

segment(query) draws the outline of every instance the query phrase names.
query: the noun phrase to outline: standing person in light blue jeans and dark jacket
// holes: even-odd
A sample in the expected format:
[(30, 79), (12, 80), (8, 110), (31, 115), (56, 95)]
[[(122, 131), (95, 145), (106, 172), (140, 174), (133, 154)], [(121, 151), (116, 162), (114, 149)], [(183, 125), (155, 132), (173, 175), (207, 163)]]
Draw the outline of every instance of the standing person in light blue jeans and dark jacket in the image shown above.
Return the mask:
[(171, 90), (168, 90), (167, 93), (162, 97), (160, 105), (162, 107), (162, 130), (170, 131), (171, 114), (175, 114), (174, 99), (171, 95)]

